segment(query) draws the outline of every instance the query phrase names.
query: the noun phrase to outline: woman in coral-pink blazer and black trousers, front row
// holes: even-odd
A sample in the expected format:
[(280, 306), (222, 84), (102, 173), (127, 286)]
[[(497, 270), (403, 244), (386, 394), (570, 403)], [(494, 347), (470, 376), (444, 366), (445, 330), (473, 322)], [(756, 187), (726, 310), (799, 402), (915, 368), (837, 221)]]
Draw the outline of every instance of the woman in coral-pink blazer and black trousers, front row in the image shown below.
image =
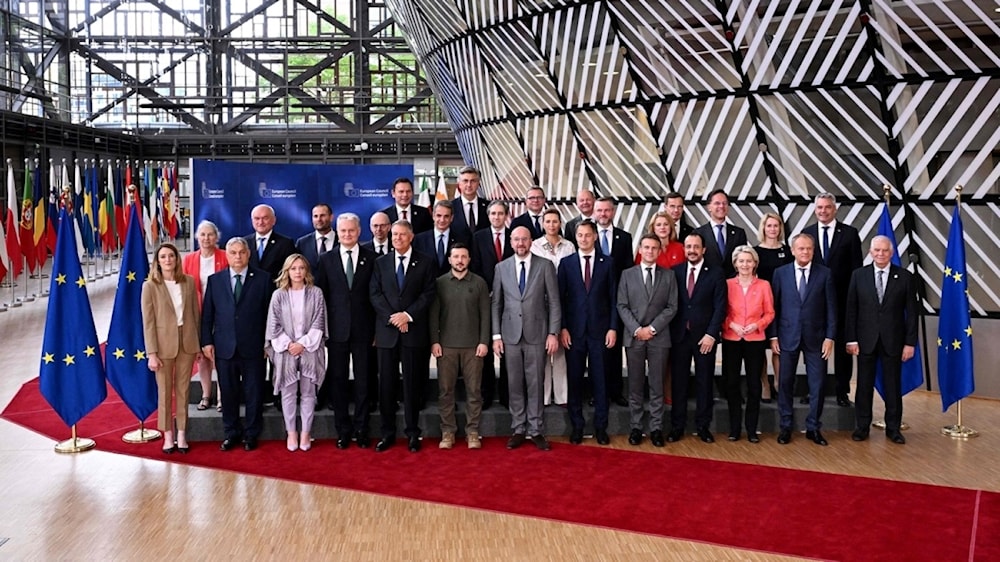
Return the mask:
[(760, 371), (764, 365), (767, 338), (764, 330), (774, 321), (771, 284), (757, 277), (760, 259), (751, 246), (733, 251), (736, 277), (726, 281), (726, 319), (722, 323), (722, 380), (729, 402), (729, 440), (739, 441), (743, 426), (743, 392), (740, 365), (746, 369), (747, 439), (759, 443), (757, 418), (760, 413)]

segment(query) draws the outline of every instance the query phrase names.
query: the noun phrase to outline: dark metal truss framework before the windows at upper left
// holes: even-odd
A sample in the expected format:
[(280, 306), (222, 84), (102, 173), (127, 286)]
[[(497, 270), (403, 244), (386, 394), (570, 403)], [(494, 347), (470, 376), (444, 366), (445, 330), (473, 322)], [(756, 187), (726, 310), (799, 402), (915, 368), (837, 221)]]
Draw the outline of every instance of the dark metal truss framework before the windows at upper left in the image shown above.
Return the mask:
[(135, 135), (146, 157), (458, 154), (380, 4), (8, 0), (7, 8), (0, 108)]

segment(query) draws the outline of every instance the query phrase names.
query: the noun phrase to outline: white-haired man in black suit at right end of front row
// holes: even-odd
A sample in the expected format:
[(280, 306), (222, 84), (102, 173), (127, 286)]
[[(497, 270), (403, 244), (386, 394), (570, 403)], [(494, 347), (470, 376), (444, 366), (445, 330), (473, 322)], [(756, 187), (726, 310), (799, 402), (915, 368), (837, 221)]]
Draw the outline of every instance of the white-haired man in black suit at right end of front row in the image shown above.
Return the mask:
[(847, 351), (858, 356), (858, 387), (854, 392), (857, 428), (851, 438), (868, 439), (872, 424), (875, 366), (882, 363), (885, 436), (902, 445), (903, 362), (913, 359), (917, 345), (917, 291), (909, 271), (892, 264), (892, 241), (872, 239), (872, 265), (857, 269), (847, 291)]

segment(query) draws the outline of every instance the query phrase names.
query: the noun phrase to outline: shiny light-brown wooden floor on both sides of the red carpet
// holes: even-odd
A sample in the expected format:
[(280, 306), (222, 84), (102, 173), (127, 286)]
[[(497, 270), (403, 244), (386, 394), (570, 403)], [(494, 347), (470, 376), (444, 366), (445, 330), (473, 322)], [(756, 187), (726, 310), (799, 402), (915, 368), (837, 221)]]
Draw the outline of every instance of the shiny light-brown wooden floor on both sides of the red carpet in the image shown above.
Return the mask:
[[(102, 340), (115, 283), (116, 277), (108, 277), (90, 287)], [(0, 302), (8, 300), (9, 289), (3, 289)], [(23, 382), (38, 374), (46, 302), (0, 313), (0, 409)], [(662, 450), (647, 442), (643, 449), (649, 454), (1000, 491), (1000, 431), (994, 429), (1000, 426), (1000, 404), (964, 402), (965, 423), (982, 431), (969, 441), (940, 435), (940, 427), (954, 423), (955, 415), (954, 410), (941, 413), (936, 394), (908, 395), (904, 418), (912, 428), (903, 447), (887, 443), (877, 432), (865, 443), (838, 432), (827, 434), (830, 446), (825, 448), (801, 436), (780, 446), (774, 435), (764, 435), (756, 446), (685, 439)], [(613, 437), (612, 446), (630, 448), (621, 436)], [(2, 560), (290, 560), (317, 555), (349, 560), (793, 559), (99, 450), (58, 455), (52, 447), (48, 439), (0, 420)], [(455, 485), (461, 482), (456, 479)]]

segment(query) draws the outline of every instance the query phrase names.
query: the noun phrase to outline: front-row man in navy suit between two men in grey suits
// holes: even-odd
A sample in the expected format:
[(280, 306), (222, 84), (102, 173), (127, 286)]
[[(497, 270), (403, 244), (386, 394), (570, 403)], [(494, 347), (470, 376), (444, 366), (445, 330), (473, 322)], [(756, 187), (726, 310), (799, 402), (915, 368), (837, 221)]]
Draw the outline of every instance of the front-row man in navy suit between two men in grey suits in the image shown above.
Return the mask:
[(607, 350), (618, 338), (618, 281), (610, 256), (597, 251), (597, 225), (580, 221), (576, 227), (577, 252), (559, 262), (559, 303), (563, 328), (559, 339), (566, 348), (569, 384), (569, 417), (573, 425), (569, 442), (583, 442), (583, 371), (588, 368), (594, 393), (594, 435), (597, 443), (611, 443), (608, 436), (608, 399), (605, 388)]

